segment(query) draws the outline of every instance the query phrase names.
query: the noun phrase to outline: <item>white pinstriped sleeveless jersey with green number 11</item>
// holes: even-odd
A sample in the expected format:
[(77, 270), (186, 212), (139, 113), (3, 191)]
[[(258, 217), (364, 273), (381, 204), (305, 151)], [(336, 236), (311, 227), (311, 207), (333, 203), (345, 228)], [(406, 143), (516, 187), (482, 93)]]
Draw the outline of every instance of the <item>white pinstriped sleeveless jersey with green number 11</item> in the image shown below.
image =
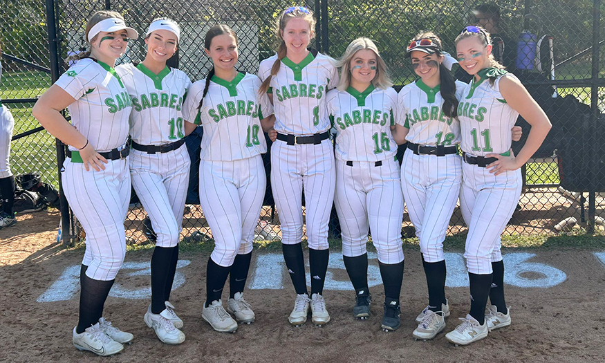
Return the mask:
[(462, 142), (460, 149), (474, 156), (488, 153), (505, 153), (510, 150), (514, 126), (519, 113), (506, 103), (500, 93), (502, 77), (515, 77), (512, 73), (490, 80), (481, 79), (467, 84), (458, 100), (458, 118)]

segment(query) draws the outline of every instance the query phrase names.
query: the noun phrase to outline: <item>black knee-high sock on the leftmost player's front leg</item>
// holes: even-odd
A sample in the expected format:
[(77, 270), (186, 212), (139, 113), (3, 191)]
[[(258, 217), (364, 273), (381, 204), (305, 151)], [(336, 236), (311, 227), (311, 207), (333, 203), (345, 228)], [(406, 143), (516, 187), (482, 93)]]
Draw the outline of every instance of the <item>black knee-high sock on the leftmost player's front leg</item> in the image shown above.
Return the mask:
[(103, 305), (113, 286), (113, 281), (93, 280), (86, 276), (86, 266), (80, 268), (80, 317), (77, 322), (76, 333), (80, 334), (97, 324), (103, 313)]

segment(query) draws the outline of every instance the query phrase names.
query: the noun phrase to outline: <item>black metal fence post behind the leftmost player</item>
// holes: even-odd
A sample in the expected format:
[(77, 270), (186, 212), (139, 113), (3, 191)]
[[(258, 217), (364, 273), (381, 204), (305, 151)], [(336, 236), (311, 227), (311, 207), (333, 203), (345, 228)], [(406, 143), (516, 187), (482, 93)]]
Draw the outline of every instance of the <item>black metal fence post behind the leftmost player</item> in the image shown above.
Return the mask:
[[(55, 12), (55, 0), (46, 0), (46, 24), (48, 28), (48, 50), (50, 52), (50, 79), (55, 83), (59, 79), (59, 37), (57, 37), (57, 17)], [(59, 139), (55, 139), (57, 147), (57, 179), (59, 180), (59, 205), (61, 210), (61, 239), (64, 245), (70, 245), (71, 218), (69, 205), (63, 192), (61, 182), (61, 168), (65, 160), (65, 147)]]

